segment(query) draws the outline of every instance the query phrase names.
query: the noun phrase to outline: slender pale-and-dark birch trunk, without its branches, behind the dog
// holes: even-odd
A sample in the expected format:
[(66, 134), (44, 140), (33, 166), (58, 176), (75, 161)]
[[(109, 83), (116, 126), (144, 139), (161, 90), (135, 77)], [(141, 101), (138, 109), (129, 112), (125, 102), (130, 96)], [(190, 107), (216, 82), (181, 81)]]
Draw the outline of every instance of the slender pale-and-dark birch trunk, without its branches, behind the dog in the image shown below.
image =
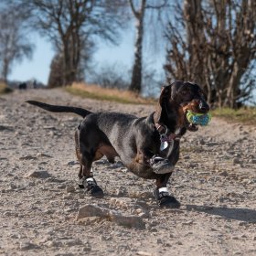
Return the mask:
[(133, 63), (132, 81), (130, 91), (142, 91), (142, 61), (143, 61), (143, 37), (144, 37), (144, 9), (146, 0), (142, 0), (140, 11), (134, 14), (136, 18), (136, 41)]

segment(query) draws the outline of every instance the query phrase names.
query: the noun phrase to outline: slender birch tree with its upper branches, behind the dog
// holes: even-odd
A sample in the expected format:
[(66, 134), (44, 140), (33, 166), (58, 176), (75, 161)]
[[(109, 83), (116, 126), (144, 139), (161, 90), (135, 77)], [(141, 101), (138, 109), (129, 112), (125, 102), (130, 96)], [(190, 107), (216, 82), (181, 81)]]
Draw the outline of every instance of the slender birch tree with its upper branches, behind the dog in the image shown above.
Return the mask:
[[(142, 73), (143, 73), (143, 42), (144, 42), (144, 19), (149, 10), (158, 11), (160, 13), (167, 6), (167, 1), (154, 0), (140, 0), (135, 5), (134, 0), (129, 0), (133, 16), (135, 17), (136, 39), (134, 44), (134, 60), (133, 60), (133, 72), (132, 80), (129, 87), (130, 91), (141, 92), (142, 91)], [(151, 21), (155, 22), (155, 21)], [(146, 24), (146, 29), (153, 33), (151, 24)], [(151, 26), (151, 28), (149, 27)]]

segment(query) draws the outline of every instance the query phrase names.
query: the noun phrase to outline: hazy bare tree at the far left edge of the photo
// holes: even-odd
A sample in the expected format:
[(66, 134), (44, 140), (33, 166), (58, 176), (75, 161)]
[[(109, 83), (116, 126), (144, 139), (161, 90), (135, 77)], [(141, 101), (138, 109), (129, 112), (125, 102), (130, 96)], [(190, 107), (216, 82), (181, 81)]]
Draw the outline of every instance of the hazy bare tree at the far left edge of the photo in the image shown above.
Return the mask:
[[(3, 4), (3, 3), (2, 3)], [(27, 16), (20, 10), (1, 6), (0, 9), (0, 70), (7, 80), (12, 65), (31, 58), (33, 45), (27, 38)]]

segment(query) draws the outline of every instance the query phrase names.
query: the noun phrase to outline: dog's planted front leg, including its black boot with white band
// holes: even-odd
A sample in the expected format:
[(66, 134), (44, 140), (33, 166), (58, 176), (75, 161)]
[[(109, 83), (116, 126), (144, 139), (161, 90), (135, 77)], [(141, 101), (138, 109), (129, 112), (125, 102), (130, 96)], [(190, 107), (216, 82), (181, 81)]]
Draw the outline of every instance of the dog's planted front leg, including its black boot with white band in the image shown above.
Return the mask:
[(176, 200), (176, 197), (169, 195), (167, 190), (167, 182), (172, 173), (161, 175), (156, 178), (156, 189), (153, 192), (155, 200), (160, 207), (167, 208), (179, 208), (180, 203)]

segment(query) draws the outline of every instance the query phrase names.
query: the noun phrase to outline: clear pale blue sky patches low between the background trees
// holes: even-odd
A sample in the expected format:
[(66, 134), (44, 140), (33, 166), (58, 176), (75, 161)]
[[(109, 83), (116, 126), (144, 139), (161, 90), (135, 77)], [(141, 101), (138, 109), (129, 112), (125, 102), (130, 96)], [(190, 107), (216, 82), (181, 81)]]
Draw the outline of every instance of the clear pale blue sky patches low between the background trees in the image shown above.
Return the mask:
[[(35, 45), (32, 59), (24, 59), (21, 63), (16, 63), (9, 75), (9, 80), (37, 80), (47, 84), (49, 66), (54, 56), (54, 50), (51, 43), (39, 35), (32, 35), (31, 41)], [(127, 29), (122, 37), (120, 44), (113, 46), (110, 43), (99, 41), (97, 50), (94, 53), (93, 67), (101, 69), (103, 65), (117, 64), (127, 69), (133, 65), (133, 42), (134, 31)], [(144, 52), (144, 59), (148, 68), (161, 70), (165, 61), (164, 53), (161, 56), (151, 54), (149, 50)]]

